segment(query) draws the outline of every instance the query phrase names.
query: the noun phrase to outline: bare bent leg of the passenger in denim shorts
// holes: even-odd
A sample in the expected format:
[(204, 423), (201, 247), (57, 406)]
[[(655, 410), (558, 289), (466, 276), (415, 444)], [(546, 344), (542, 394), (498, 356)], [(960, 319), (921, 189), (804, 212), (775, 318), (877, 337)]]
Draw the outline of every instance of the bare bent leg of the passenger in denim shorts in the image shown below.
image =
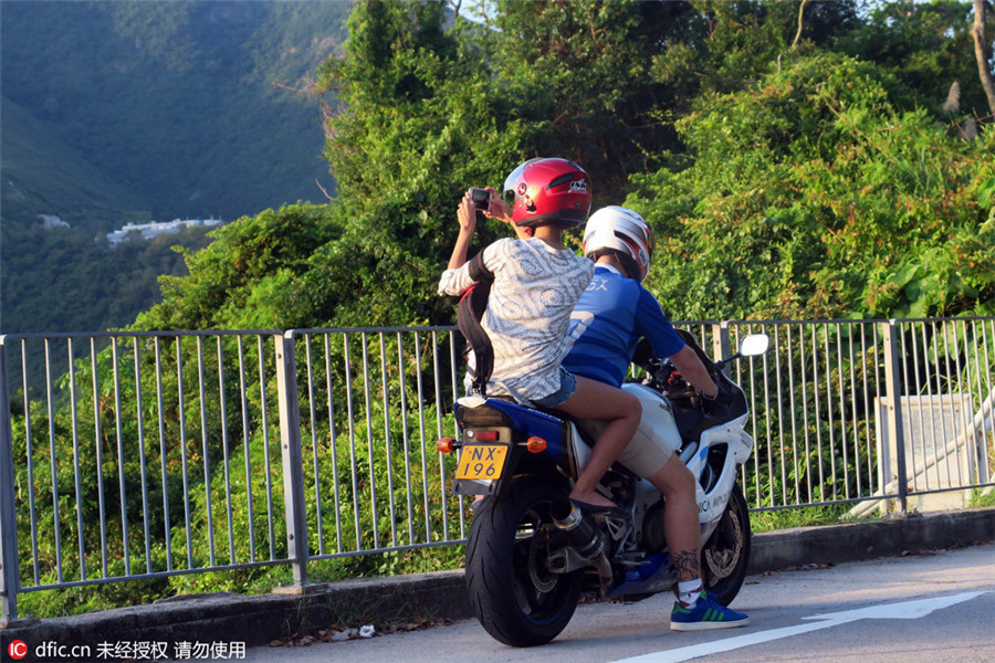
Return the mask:
[(608, 421), (574, 484), (570, 498), (596, 506), (615, 506), (595, 487), (636, 433), (642, 417), (639, 399), (610, 385), (577, 376), (577, 390), (556, 409), (572, 417)]

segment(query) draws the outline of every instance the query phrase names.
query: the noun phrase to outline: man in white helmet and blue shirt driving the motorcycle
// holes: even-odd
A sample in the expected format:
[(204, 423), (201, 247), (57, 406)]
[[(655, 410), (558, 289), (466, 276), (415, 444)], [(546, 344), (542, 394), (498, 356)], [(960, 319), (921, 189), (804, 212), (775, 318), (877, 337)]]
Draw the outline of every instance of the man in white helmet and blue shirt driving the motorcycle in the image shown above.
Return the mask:
[[(610, 206), (591, 214), (584, 254), (596, 263), (594, 278), (570, 319), (569, 354), (563, 366), (579, 376), (619, 387), (640, 338), (654, 357), (667, 357), (702, 396), (706, 409), (721, 410), (729, 393), (712, 380), (694, 350), (681, 340), (660, 304), (642, 286), (653, 251), (649, 224), (632, 210)], [(722, 387), (720, 387), (722, 386)], [(596, 432), (597, 423), (590, 422)], [(664, 533), (678, 577), (671, 629), (695, 631), (742, 627), (750, 618), (716, 602), (703, 589), (701, 530), (695, 480), (673, 450), (648, 425), (640, 425), (619, 462), (649, 481), (666, 499)]]

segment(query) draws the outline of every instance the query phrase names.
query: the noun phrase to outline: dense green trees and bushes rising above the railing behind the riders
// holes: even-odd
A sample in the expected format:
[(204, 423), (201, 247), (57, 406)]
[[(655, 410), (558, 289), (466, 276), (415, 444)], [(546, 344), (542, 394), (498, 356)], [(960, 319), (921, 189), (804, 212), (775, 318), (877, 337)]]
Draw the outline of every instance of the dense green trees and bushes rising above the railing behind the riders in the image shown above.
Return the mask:
[[(163, 277), (161, 303), (134, 328), (451, 324), (452, 303), (436, 284), (460, 197), (470, 186), (499, 187), (526, 158), (552, 155), (588, 168), (595, 207), (625, 202), (654, 227), (647, 283), (673, 318), (995, 313), (995, 133), (965, 38), (970, 4), (889, 3), (861, 13), (846, 1), (515, 0), (479, 3), (479, 22), (465, 19), (468, 9), (453, 18), (443, 2), (357, 3), (343, 56), (317, 72), (339, 104), (325, 118), (334, 200), (289, 201), (212, 232), (209, 246), (184, 254), (187, 275)], [(155, 52), (186, 66), (182, 53)], [(507, 233), (480, 225), (479, 245)], [(853, 333), (841, 324), (835, 334), (844, 328)], [(842, 385), (844, 361), (815, 370)], [(846, 358), (855, 370), (877, 361)], [(105, 350), (97, 371), (109, 362)], [(336, 377), (357, 379), (349, 375)], [(272, 379), (253, 387), (265, 392)], [(797, 396), (804, 406), (817, 398), (804, 387)], [(860, 398), (865, 410), (870, 396)], [(49, 430), (46, 413), (30, 417), (33, 431)], [(65, 417), (55, 413), (60, 429)], [(370, 449), (375, 436), (377, 449), (391, 449), (400, 431), (379, 436), (389, 420), (384, 411), (357, 424)], [(315, 439), (338, 423), (333, 418)], [(815, 433), (831, 425), (811, 424)], [(778, 440), (761, 444), (773, 454)], [(258, 436), (245, 442), (256, 459), (264, 445)], [(322, 461), (333, 450), (311, 449)], [(220, 452), (205, 442), (202, 457), (212, 453)], [(835, 496), (871, 453), (865, 444), (856, 456), (837, 455), (830, 444), (828, 459), (810, 459), (831, 477), (813, 494)], [(111, 482), (124, 471), (102, 470)], [(799, 472), (754, 478), (788, 491)], [(217, 488), (205, 478), (192, 490)], [(200, 547), (212, 513), (206, 502), (190, 505)], [(356, 532), (381, 526), (373, 517), (355, 523)], [(329, 572), (425, 564), (342, 562)], [(264, 586), (284, 571), (269, 573), (190, 582)]]

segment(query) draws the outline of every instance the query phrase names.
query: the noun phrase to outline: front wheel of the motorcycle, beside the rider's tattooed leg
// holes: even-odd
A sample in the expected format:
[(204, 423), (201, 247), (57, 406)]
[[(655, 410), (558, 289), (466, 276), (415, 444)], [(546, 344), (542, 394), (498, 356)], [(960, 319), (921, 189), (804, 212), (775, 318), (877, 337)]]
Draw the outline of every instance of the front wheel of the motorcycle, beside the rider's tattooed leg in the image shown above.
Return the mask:
[(750, 512), (740, 484), (733, 484), (718, 527), (701, 549), (704, 588), (723, 606), (732, 603), (750, 564)]

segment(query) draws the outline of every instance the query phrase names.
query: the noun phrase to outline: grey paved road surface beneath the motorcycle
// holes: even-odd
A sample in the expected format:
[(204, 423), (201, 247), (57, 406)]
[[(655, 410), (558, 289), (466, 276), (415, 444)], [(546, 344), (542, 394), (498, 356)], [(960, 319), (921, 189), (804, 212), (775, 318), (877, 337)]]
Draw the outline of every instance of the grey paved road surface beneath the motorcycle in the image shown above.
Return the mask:
[(363, 663), (625, 662), (988, 663), (995, 661), (995, 546), (751, 576), (733, 607), (752, 624), (669, 629), (670, 597), (578, 608), (553, 643), (517, 650), (474, 620), (305, 648), (255, 648), (250, 661)]

